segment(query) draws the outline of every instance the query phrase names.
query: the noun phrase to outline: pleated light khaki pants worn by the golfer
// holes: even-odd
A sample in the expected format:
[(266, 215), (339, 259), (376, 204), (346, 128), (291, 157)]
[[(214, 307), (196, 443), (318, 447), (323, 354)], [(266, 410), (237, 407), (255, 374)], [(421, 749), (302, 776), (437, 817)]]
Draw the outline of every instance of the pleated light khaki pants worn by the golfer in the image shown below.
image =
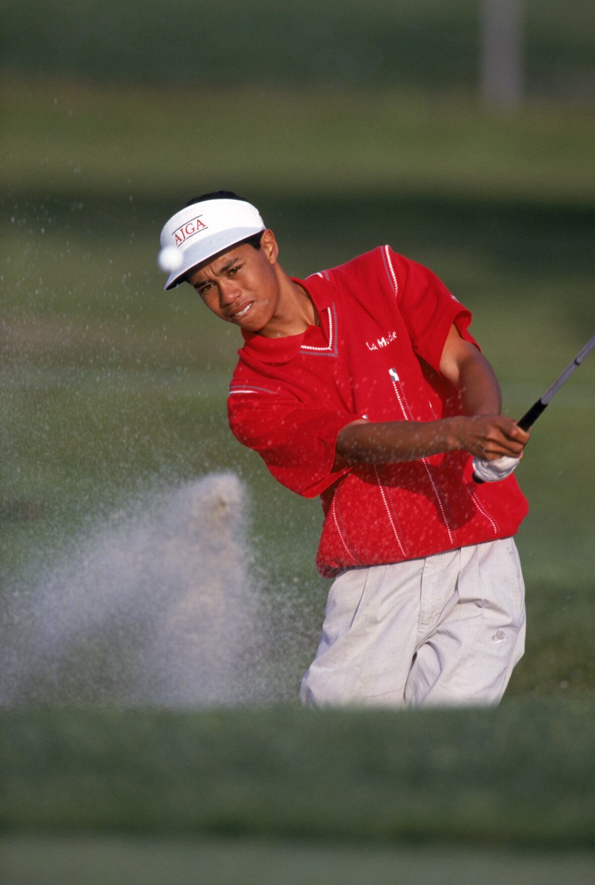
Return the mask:
[(498, 704), (524, 635), (523, 574), (512, 538), (349, 569), (329, 592), (301, 701)]

